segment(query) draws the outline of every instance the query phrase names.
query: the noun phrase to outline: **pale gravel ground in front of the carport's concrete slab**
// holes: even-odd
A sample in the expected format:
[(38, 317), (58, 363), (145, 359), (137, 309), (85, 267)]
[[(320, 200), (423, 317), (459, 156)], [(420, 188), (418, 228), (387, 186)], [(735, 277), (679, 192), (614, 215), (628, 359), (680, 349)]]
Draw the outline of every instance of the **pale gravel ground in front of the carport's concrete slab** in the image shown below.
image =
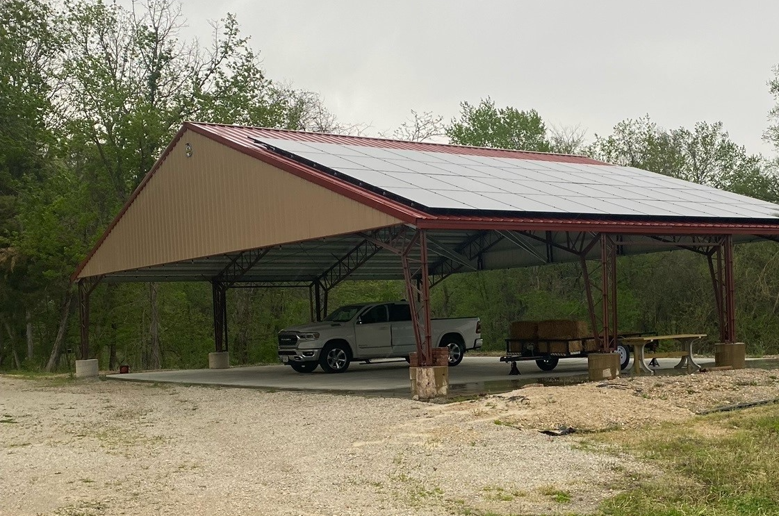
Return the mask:
[(626, 476), (654, 472), (534, 429), (679, 421), (776, 398), (777, 374), (529, 387), (448, 405), (0, 376), (0, 514), (587, 513)]

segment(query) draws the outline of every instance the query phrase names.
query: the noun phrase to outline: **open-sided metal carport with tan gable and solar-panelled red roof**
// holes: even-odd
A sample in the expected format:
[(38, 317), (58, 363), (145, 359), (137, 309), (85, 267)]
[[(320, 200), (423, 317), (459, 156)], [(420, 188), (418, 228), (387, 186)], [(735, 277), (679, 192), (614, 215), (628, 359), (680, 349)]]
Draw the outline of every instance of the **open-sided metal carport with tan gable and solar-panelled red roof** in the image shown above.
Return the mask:
[(80, 356), (100, 282), (308, 288), (312, 319), (344, 279), (404, 279), (422, 366), (429, 289), (457, 272), (580, 262), (590, 325), (615, 346), (620, 255), (671, 249), (710, 267), (735, 342), (733, 245), (779, 236), (779, 205), (585, 156), (187, 122), (72, 279)]

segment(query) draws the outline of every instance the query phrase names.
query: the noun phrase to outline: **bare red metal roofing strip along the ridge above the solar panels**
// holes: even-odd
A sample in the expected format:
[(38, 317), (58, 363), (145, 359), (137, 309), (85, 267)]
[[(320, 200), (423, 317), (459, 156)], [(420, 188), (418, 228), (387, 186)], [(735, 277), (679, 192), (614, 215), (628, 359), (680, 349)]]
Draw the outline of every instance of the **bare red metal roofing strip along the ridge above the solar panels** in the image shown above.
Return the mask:
[(380, 149), (419, 150), (428, 153), (461, 154), (463, 156), (485, 156), (491, 158), (513, 158), (515, 160), (556, 161), (559, 163), (587, 163), (590, 165), (608, 165), (602, 161), (593, 160), (587, 156), (573, 154), (534, 153), (520, 150), (492, 149), (489, 147), (466, 147), (446, 145), (443, 143), (405, 142), (381, 138), (366, 138), (365, 136), (328, 135), (319, 132), (284, 131), (282, 129), (266, 129), (245, 127), (241, 125), (220, 125), (187, 122), (201, 129), (230, 139), (240, 146), (253, 146), (252, 139), (278, 138), (296, 142), (337, 143), (340, 145), (355, 145), (378, 147)]

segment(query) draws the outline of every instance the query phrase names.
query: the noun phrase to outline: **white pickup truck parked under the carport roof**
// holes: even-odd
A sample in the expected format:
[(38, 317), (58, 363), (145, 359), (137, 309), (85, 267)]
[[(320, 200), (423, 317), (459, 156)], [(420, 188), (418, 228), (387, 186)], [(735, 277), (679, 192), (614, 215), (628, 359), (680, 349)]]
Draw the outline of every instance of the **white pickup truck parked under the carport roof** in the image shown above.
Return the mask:
[[(466, 349), (481, 348), (481, 322), (433, 319), (432, 343), (449, 348), (449, 366), (456, 366)], [(281, 362), (298, 373), (311, 373), (317, 366), (326, 373), (343, 373), (353, 360), (407, 358), (416, 349), (411, 309), (405, 301), (350, 304), (324, 321), (279, 332)]]

